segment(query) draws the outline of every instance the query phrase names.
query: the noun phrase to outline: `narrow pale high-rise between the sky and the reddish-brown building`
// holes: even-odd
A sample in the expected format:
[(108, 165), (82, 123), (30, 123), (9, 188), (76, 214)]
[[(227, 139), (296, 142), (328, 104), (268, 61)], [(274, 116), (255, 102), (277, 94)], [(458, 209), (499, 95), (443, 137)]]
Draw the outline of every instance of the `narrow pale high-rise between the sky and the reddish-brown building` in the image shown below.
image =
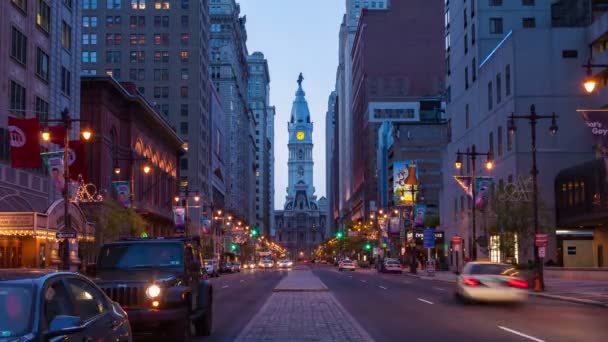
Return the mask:
[(385, 10), (390, 7), (390, 0), (385, 1), (363, 1), (346, 0), (346, 14), (340, 26), (339, 39), (339, 61), (336, 74), (336, 92), (339, 102), (340, 143), (343, 149), (339, 154), (339, 177), (340, 189), (340, 216), (345, 215), (342, 211), (350, 210), (350, 198), (353, 194), (352, 150), (349, 148), (353, 143), (352, 126), (352, 47), (357, 32), (357, 25), (363, 9)]

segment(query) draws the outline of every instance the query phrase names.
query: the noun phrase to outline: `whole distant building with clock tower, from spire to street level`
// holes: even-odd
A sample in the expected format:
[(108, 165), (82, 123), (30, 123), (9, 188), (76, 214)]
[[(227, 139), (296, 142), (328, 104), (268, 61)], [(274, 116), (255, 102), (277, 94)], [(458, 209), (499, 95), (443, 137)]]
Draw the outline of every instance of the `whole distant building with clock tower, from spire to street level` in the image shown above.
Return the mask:
[(287, 196), (283, 210), (275, 212), (275, 241), (293, 260), (310, 259), (314, 247), (324, 241), (327, 228), (327, 201), (324, 197), (317, 201), (313, 185), (313, 123), (302, 81), (300, 74), (288, 123)]

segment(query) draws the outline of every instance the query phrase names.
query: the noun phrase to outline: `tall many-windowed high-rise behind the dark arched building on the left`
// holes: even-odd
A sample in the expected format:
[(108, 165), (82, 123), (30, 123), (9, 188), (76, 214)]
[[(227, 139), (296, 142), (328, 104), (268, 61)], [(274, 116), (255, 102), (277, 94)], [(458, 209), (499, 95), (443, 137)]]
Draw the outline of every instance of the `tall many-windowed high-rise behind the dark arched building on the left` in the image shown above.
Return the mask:
[[(181, 180), (208, 202), (207, 0), (84, 0), (82, 4), (82, 74), (106, 74), (137, 86), (186, 142)], [(200, 210), (189, 213), (194, 229), (200, 225), (200, 215)]]

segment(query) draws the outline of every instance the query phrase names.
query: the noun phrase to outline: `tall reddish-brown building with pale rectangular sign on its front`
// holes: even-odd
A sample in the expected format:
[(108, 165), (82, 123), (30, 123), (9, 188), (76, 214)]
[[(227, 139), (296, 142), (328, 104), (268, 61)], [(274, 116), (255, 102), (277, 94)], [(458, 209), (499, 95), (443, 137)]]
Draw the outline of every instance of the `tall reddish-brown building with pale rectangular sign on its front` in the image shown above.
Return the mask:
[[(364, 10), (359, 19), (352, 49), (351, 97), (352, 135), (358, 138), (348, 146), (353, 156), (353, 193), (343, 216), (346, 222), (368, 217), (378, 208), (380, 124), (415, 125), (427, 111), (432, 120), (441, 118), (442, 17), (441, 4), (393, 1), (390, 9)], [(393, 53), (387, 55), (388, 49)]]

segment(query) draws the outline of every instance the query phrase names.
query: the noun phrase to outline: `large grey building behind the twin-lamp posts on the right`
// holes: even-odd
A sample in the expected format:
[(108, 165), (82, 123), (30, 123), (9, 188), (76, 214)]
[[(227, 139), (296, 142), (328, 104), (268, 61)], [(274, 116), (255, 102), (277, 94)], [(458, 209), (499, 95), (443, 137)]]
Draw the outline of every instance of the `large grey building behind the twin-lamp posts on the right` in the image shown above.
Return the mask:
[[(443, 166), (444, 188), (441, 222), (446, 235), (463, 237), (463, 248), (471, 251), (473, 239), (478, 258), (493, 261), (526, 262), (534, 258), (533, 231), (518, 233), (502, 241), (491, 208), (477, 211), (477, 236), (472, 235), (473, 200), (454, 181), (467, 176), (472, 165), (465, 158), (456, 172), (457, 151), (490, 152), (495, 167), (476, 165), (476, 175), (491, 177), (497, 189), (516, 189), (531, 203), (531, 131), (528, 120), (516, 120), (517, 131), (509, 134), (509, 115), (529, 115), (531, 106), (539, 115), (555, 113), (560, 128), (549, 132), (551, 120), (537, 124), (536, 144), (539, 168), (539, 198), (542, 203), (541, 231), (549, 233), (547, 260), (556, 261), (554, 180), (559, 170), (594, 158), (591, 136), (577, 114), (580, 108), (598, 108), (597, 97), (585, 97), (581, 87), (588, 58), (585, 20), (572, 9), (572, 1), (536, 2), (450, 2), (446, 7), (447, 113), (451, 141)], [(589, 1), (586, 5), (590, 5)], [(582, 4), (578, 2), (575, 4)], [(590, 9), (591, 7), (588, 7)], [(574, 18), (578, 18), (574, 20)], [(525, 52), (524, 52), (525, 51)], [(530, 82), (533, 75), (534, 82)], [(604, 101), (605, 102), (605, 101)], [(480, 159), (480, 158), (478, 158)], [(506, 197), (505, 197), (506, 198)], [(505, 201), (507, 199), (503, 198)], [(509, 197), (510, 198), (510, 197)], [(500, 231), (500, 230), (499, 230)], [(482, 237), (481, 239), (479, 237)], [(479, 243), (479, 241), (481, 241)], [(508, 250), (501, 247), (516, 246)], [(463, 259), (468, 253), (451, 256)], [(462, 263), (461, 263), (462, 264)]]

